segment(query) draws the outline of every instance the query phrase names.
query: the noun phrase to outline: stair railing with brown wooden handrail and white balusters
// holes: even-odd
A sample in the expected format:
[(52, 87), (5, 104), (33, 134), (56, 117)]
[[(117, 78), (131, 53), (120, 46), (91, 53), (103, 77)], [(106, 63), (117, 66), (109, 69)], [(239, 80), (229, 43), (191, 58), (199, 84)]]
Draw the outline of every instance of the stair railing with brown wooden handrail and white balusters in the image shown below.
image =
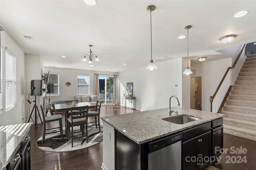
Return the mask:
[(217, 89), (215, 90), (214, 94), (212, 96), (210, 96), (210, 111), (211, 112), (217, 113), (222, 102), (226, 102), (223, 100), (224, 100), (225, 95), (228, 92), (228, 89), (230, 88), (230, 85), (231, 85), (231, 68), (234, 68), (236, 66), (236, 63), (238, 62), (238, 59), (240, 58), (240, 55), (242, 54), (245, 46), (246, 46), (246, 44), (244, 44), (240, 53), (236, 57), (236, 61), (234, 62), (233, 66), (228, 67), (228, 69), (226, 70), (226, 72), (225, 72), (223, 78), (221, 79), (220, 84), (218, 85)]

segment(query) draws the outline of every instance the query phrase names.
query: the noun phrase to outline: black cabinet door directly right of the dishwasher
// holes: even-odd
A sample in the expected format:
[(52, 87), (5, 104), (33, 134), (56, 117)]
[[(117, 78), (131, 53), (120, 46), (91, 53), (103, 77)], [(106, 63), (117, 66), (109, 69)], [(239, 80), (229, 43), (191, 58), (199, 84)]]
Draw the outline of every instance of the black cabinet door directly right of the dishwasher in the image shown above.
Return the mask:
[(182, 143), (182, 170), (196, 169), (197, 137)]

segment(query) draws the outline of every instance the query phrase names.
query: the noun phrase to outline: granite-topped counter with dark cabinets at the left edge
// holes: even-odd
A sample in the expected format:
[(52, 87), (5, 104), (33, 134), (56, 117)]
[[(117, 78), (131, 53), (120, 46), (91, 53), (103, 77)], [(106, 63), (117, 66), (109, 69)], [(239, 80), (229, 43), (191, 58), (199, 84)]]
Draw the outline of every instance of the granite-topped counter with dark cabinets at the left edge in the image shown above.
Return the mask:
[(0, 170), (30, 169), (32, 123), (0, 126)]

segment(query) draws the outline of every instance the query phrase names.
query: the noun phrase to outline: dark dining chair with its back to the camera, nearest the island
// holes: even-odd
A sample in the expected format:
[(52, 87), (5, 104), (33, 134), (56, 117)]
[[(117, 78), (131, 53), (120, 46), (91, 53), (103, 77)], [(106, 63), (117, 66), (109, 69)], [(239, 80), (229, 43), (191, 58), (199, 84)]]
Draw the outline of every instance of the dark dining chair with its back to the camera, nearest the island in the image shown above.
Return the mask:
[[(87, 113), (88, 113), (88, 106), (81, 106), (81, 107), (71, 107), (71, 116), (68, 118), (68, 141), (71, 137), (71, 143), (73, 147), (73, 141), (74, 139), (85, 137), (86, 136), (86, 142), (88, 143), (88, 131), (87, 131)], [(80, 128), (80, 131), (74, 131), (74, 126), (80, 125), (82, 128)], [(85, 125), (85, 127), (84, 127)], [(71, 127), (71, 133), (70, 133), (70, 127)], [(81, 133), (82, 135), (78, 135), (74, 137), (75, 133)]]

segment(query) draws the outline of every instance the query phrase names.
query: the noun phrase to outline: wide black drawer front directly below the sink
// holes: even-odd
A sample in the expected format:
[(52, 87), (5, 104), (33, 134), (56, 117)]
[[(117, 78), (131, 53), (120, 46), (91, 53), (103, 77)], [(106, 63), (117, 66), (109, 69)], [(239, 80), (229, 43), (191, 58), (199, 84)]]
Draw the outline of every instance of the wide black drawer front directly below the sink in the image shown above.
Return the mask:
[(209, 131), (210, 129), (211, 129), (211, 122), (207, 122), (202, 125), (198, 125), (196, 127), (186, 129), (182, 131), (183, 141), (186, 141), (187, 139), (191, 139), (192, 137), (201, 135), (202, 133)]

